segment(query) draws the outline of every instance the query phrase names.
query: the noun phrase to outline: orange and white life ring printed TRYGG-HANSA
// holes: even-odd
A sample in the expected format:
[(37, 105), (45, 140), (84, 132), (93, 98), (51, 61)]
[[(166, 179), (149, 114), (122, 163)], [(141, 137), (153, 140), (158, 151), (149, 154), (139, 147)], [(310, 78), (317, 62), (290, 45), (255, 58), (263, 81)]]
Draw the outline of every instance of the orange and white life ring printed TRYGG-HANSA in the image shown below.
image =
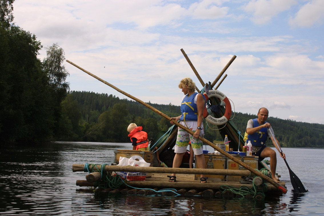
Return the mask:
[(217, 97), (225, 102), (225, 112), (224, 115), (220, 118), (214, 118), (213, 116), (209, 115), (207, 112), (207, 108), (205, 107), (203, 111), (203, 118), (206, 119), (208, 122), (215, 124), (215, 125), (222, 125), (225, 124), (228, 119), (232, 115), (232, 106), (229, 102), (228, 98), (218, 90), (209, 90), (208, 95), (206, 93), (203, 94), (206, 98), (206, 101), (211, 97)]

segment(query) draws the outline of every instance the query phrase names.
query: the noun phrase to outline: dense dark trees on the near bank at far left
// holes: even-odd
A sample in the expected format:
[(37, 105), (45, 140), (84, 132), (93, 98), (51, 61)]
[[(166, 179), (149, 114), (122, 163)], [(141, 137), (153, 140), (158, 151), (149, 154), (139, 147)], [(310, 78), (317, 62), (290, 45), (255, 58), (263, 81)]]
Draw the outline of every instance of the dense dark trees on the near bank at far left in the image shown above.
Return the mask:
[(35, 35), (0, 26), (1, 141), (48, 141), (60, 122), (66, 90), (49, 83), (37, 58), (41, 47)]

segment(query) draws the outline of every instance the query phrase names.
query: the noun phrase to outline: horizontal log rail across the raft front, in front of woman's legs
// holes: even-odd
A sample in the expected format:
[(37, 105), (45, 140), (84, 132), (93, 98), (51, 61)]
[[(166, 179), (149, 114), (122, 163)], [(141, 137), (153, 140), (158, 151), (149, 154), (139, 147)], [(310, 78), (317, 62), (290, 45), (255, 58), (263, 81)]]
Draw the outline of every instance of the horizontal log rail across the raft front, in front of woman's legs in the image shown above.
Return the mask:
[[(96, 166), (98, 169), (101, 169), (101, 165), (96, 165)], [(251, 172), (248, 170), (200, 169), (200, 168), (191, 169), (191, 168), (169, 168), (169, 167), (165, 168), (165, 167), (153, 167), (153, 166), (144, 167), (144, 166), (105, 165), (104, 169), (105, 172), (180, 173), (180, 174), (204, 173), (206, 175), (221, 175), (221, 176), (249, 176), (251, 174)], [(84, 164), (72, 165), (72, 171), (84, 172)], [(97, 172), (93, 172), (93, 173), (97, 173)], [(100, 176), (98, 177), (100, 178)]]

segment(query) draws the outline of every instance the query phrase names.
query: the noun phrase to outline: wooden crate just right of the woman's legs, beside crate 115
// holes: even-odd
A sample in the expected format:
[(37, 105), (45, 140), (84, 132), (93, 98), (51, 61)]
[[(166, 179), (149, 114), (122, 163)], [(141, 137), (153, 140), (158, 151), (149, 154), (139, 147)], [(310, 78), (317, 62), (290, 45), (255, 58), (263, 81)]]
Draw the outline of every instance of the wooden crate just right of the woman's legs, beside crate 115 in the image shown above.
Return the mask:
[[(226, 157), (220, 154), (204, 154), (207, 169), (225, 169)], [(199, 168), (195, 158), (195, 168)], [(203, 173), (202, 173), (203, 174)], [(225, 176), (221, 175), (205, 175), (211, 181), (225, 181)], [(195, 175), (195, 180), (200, 180), (200, 174)], [(207, 180), (207, 181), (208, 181)]]

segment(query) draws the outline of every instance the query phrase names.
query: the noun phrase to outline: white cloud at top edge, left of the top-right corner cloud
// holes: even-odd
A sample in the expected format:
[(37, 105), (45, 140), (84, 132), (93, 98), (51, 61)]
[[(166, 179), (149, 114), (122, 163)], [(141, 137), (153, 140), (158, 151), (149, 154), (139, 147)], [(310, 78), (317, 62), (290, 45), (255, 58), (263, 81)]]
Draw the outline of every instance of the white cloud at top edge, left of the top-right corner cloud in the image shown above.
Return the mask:
[(263, 25), (270, 22), (272, 17), (289, 10), (295, 4), (295, 0), (251, 0), (242, 8), (252, 14), (251, 20), (254, 23)]

